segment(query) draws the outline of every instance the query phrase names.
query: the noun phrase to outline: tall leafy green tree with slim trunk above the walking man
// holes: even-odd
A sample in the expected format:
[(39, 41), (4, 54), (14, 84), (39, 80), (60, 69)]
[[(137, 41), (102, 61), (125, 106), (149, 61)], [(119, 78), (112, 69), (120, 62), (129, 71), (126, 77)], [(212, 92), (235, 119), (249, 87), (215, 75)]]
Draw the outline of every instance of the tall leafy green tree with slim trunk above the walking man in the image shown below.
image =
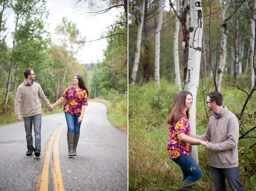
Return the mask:
[(14, 81), (12, 84), (15, 90), (17, 83), (20, 82), (20, 76), (17, 74), (23, 73), (25, 67), (39, 66), (48, 44), (44, 38), (47, 37), (44, 20), (48, 16), (45, 0), (14, 0), (10, 1), (10, 8), (14, 12), (14, 31), (10, 36), (13, 43), (8, 60), (5, 106), (8, 102), (11, 80)]

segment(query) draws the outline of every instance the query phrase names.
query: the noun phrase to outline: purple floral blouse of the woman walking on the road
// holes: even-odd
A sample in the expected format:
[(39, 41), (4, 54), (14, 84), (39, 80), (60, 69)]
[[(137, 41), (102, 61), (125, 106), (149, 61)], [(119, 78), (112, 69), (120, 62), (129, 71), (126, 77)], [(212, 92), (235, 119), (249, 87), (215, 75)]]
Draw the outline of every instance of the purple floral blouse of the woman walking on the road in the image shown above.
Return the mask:
[(88, 105), (87, 93), (83, 89), (77, 92), (73, 86), (68, 87), (62, 97), (66, 99), (64, 112), (70, 112), (72, 115), (81, 114), (82, 105)]

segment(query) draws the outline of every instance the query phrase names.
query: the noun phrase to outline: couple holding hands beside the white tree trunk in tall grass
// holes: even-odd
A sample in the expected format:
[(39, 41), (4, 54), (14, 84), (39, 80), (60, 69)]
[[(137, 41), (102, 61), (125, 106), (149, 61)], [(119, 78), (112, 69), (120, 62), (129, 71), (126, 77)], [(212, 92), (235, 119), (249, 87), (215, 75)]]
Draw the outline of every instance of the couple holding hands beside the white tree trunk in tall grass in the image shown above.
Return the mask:
[(181, 91), (174, 102), (168, 118), (168, 155), (177, 163), (183, 173), (178, 191), (192, 189), (202, 172), (191, 157), (191, 144), (202, 144), (210, 151), (210, 167), (216, 191), (226, 191), (226, 179), (233, 191), (242, 191), (238, 169), (239, 123), (236, 116), (222, 106), (219, 92), (207, 94), (206, 106), (213, 111), (206, 133), (198, 136), (190, 133), (189, 108), (193, 96), (189, 91)]

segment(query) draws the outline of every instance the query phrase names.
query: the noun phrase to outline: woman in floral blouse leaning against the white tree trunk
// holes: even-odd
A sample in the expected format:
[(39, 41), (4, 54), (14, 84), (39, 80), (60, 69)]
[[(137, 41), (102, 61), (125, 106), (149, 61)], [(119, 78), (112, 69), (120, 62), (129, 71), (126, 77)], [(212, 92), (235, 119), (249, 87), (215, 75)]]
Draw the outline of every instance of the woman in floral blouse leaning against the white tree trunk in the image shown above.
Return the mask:
[(181, 91), (176, 97), (168, 118), (168, 155), (180, 166), (183, 173), (183, 182), (178, 191), (192, 189), (194, 182), (202, 176), (200, 168), (191, 156), (191, 144), (207, 145), (205, 141), (196, 139), (196, 135), (190, 134), (188, 119), (192, 103), (192, 94), (189, 91)]

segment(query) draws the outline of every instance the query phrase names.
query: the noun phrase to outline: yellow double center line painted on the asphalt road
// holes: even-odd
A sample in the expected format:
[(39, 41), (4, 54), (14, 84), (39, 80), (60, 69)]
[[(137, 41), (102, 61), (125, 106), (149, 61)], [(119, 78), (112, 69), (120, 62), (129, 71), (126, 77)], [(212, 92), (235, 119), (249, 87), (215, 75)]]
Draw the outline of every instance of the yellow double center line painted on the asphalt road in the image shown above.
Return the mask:
[(44, 166), (42, 169), (41, 178), (39, 178), (38, 180), (37, 189), (36, 189), (37, 191), (48, 191), (48, 173), (49, 173), (50, 155), (52, 150), (52, 142), (56, 134), (57, 135), (54, 140), (54, 150), (53, 150), (53, 157), (52, 157), (54, 191), (64, 191), (62, 175), (60, 171), (60, 157), (59, 157), (59, 139), (60, 139), (60, 133), (62, 132), (64, 127), (66, 127), (66, 123), (60, 125), (56, 130), (54, 130), (50, 140), (47, 143)]

